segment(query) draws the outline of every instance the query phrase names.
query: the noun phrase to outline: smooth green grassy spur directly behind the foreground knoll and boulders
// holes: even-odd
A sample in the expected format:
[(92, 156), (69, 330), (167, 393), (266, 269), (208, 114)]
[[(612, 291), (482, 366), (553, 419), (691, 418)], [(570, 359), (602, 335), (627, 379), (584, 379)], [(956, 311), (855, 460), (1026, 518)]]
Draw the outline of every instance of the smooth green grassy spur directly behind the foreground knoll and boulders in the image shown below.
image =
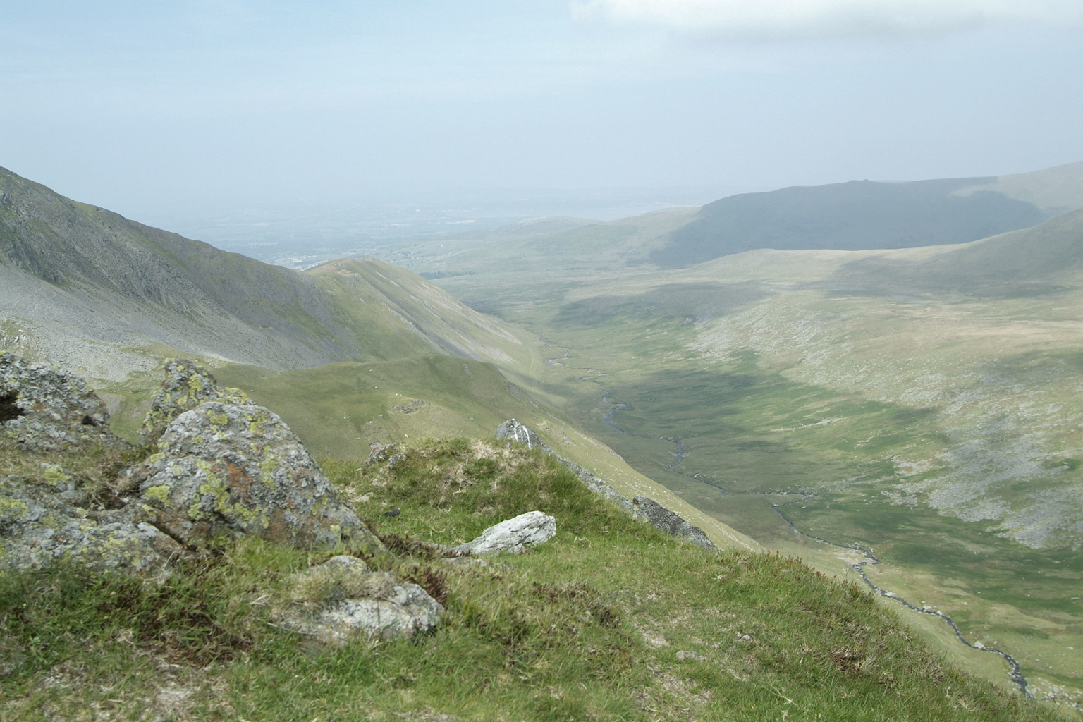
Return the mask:
[(426, 356), (384, 364), (331, 364), (275, 372), (251, 366), (216, 369), (223, 383), (278, 409), (313, 452), (351, 462), (369, 444), (461, 434), (487, 437), (504, 421), (530, 425), (561, 456), (610, 482), (627, 498), (644, 495), (703, 528), (720, 547), (758, 549), (755, 541), (689, 504), (630, 468), (611, 448), (565, 418), (538, 406), (488, 364)]

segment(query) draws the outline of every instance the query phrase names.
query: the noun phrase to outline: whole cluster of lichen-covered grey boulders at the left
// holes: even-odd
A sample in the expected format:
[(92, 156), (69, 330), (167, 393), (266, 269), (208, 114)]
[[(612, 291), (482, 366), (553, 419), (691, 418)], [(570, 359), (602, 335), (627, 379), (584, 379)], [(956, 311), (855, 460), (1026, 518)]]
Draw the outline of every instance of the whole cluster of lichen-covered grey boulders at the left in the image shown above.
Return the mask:
[[(144, 424), (147, 436), (162, 423), (165, 432), (157, 451), (121, 472), (106, 495), (117, 508), (92, 503), (80, 480), (60, 464), (42, 464), (34, 478), (0, 477), (0, 568), (63, 562), (168, 573), (171, 559), (240, 535), (384, 551), (282, 419), (236, 390), (218, 388), (191, 362), (170, 362), (166, 371)], [(102, 401), (66, 371), (4, 354), (0, 383), (2, 431), (19, 449), (63, 459), (88, 445), (130, 447), (106, 428)]]

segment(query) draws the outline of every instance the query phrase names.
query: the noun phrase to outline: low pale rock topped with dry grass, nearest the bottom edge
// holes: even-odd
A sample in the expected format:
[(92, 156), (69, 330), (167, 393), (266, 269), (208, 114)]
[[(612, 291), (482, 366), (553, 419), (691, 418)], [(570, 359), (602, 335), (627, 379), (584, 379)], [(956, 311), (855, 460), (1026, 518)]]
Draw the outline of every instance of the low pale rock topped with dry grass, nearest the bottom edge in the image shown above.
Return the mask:
[(354, 556), (335, 556), (290, 581), (292, 603), (277, 612), (278, 622), (326, 641), (358, 634), (386, 640), (410, 636), (434, 628), (444, 614), (443, 605), (421, 587), (387, 572), (371, 572)]

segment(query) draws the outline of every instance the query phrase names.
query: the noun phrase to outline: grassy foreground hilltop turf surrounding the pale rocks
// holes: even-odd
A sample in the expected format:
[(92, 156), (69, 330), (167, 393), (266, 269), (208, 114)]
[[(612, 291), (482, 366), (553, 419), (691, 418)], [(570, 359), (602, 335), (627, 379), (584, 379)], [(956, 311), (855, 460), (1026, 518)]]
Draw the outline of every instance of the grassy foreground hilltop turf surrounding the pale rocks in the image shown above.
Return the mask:
[[(434, 633), (327, 645), (279, 629), (299, 593), (334, 596), (290, 576), (334, 552), (257, 539), (164, 583), (4, 574), (0, 720), (1058, 719), (947, 666), (860, 587), (665, 537), (537, 450), (399, 452), (323, 465), (394, 552), (369, 563), (444, 602)], [(558, 535), (519, 556), (446, 562), (423, 543), (534, 509)]]

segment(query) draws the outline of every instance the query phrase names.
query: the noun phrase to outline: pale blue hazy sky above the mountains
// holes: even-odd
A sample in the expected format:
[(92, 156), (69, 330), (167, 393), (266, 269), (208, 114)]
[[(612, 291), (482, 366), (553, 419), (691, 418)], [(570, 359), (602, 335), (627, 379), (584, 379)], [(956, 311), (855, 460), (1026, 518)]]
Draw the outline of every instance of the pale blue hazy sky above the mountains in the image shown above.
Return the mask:
[(0, 166), (140, 218), (1083, 160), (1081, 0), (0, 2)]

